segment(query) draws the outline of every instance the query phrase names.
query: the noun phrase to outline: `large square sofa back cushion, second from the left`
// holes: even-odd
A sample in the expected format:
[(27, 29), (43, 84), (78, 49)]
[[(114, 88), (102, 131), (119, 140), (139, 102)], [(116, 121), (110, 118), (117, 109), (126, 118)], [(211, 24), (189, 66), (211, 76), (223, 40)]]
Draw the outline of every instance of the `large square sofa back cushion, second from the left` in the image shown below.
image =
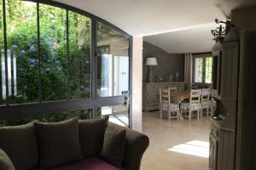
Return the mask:
[(40, 167), (55, 167), (83, 158), (78, 119), (35, 122), (35, 127), (38, 133)]

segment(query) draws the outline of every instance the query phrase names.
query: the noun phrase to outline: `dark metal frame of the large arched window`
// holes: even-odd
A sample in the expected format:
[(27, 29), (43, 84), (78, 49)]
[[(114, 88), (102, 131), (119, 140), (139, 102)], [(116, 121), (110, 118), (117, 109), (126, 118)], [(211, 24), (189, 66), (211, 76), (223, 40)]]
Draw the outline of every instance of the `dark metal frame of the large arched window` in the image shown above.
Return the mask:
[[(6, 35), (6, 8), (5, 8), (5, 1), (3, 1), (3, 38), (4, 38), (4, 56), (5, 61), (7, 62), (7, 35)], [(124, 37), (129, 39), (129, 90), (132, 91), (131, 86), (131, 68), (132, 68), (132, 37), (127, 32), (119, 29), (117, 26), (113, 26), (113, 24), (109, 23), (107, 20), (103, 20), (99, 17), (97, 17), (94, 14), (90, 14), (82, 9), (72, 7), (70, 5), (64, 4), (64, 3), (58, 3), (54, 1), (48, 1), (48, 0), (29, 0), (30, 2), (37, 3), (37, 11), (39, 13), (39, 4), (46, 4), (50, 6), (54, 6), (57, 8), (64, 8), (67, 11), (67, 23), (68, 23), (68, 11), (72, 11), (78, 14), (82, 14), (85, 17), (90, 18), (91, 20), (91, 49), (90, 49), (90, 98), (87, 99), (67, 99), (67, 100), (60, 100), (60, 101), (49, 101), (49, 102), (42, 102), (41, 99), (39, 99), (39, 102), (34, 103), (25, 103), (25, 104), (9, 104), (9, 92), (7, 89), (7, 99), (6, 99), (6, 105), (0, 105), (0, 118), (14, 118), (14, 117), (20, 117), (20, 116), (35, 116), (40, 114), (47, 114), (49, 112), (56, 112), (56, 111), (70, 111), (70, 110), (80, 110), (80, 109), (91, 109), (92, 110), (92, 118), (96, 118), (96, 109), (98, 107), (102, 106), (109, 106), (109, 105), (123, 105), (124, 103), (124, 96), (113, 96), (113, 97), (97, 97), (96, 95), (96, 22), (101, 22), (102, 24), (105, 24), (106, 26), (109, 26), (115, 31), (118, 31), (120, 34), (122, 34)], [(39, 15), (37, 17), (37, 20), (39, 22)], [(68, 25), (67, 25), (68, 26)], [(38, 44), (40, 43), (40, 28), (38, 25)], [(68, 40), (68, 31), (67, 31), (67, 40)], [(40, 47), (38, 45), (38, 47)], [(38, 49), (38, 53), (40, 53), (40, 49)], [(68, 49), (67, 49), (67, 55), (68, 55)], [(40, 54), (38, 54), (38, 57), (40, 58)], [(38, 59), (40, 62), (40, 59)], [(7, 66), (7, 65), (6, 65)], [(6, 69), (7, 71), (7, 69)], [(40, 67), (38, 69), (38, 73), (40, 73)], [(7, 75), (7, 72), (6, 72)], [(41, 90), (41, 81), (40, 81), (40, 74), (38, 74), (38, 88)], [(6, 81), (8, 84), (8, 80)], [(38, 90), (38, 94), (40, 96), (40, 90)], [(130, 93), (130, 109), (129, 109), (129, 127), (131, 127), (131, 101), (132, 101), (132, 95)]]

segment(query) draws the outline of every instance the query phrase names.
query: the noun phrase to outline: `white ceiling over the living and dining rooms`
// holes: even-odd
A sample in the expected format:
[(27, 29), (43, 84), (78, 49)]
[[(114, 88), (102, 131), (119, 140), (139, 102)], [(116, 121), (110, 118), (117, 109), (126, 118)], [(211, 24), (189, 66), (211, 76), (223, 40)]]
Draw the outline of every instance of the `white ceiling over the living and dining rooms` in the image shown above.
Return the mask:
[(146, 36), (169, 53), (210, 51), (215, 18), (255, 0), (55, 0), (108, 20), (131, 36)]

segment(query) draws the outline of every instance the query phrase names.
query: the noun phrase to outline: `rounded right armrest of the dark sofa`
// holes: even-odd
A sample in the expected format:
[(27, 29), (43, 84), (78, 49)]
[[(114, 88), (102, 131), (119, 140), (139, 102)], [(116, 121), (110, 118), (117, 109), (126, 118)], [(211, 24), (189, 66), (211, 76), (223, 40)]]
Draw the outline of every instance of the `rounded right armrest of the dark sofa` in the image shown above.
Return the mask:
[(108, 123), (108, 126), (126, 129), (125, 156), (123, 167), (125, 167), (125, 170), (139, 170), (143, 154), (148, 148), (148, 136), (126, 127), (120, 127), (119, 125), (113, 124), (111, 122)]

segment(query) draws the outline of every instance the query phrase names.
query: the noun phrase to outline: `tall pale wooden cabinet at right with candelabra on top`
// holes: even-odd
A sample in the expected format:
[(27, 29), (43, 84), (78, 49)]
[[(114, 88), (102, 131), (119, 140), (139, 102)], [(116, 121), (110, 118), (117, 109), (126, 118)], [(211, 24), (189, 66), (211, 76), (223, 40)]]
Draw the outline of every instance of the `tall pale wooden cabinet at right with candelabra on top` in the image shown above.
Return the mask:
[(217, 108), (211, 120), (209, 167), (234, 170), (239, 42), (221, 42), (212, 56), (212, 97)]

